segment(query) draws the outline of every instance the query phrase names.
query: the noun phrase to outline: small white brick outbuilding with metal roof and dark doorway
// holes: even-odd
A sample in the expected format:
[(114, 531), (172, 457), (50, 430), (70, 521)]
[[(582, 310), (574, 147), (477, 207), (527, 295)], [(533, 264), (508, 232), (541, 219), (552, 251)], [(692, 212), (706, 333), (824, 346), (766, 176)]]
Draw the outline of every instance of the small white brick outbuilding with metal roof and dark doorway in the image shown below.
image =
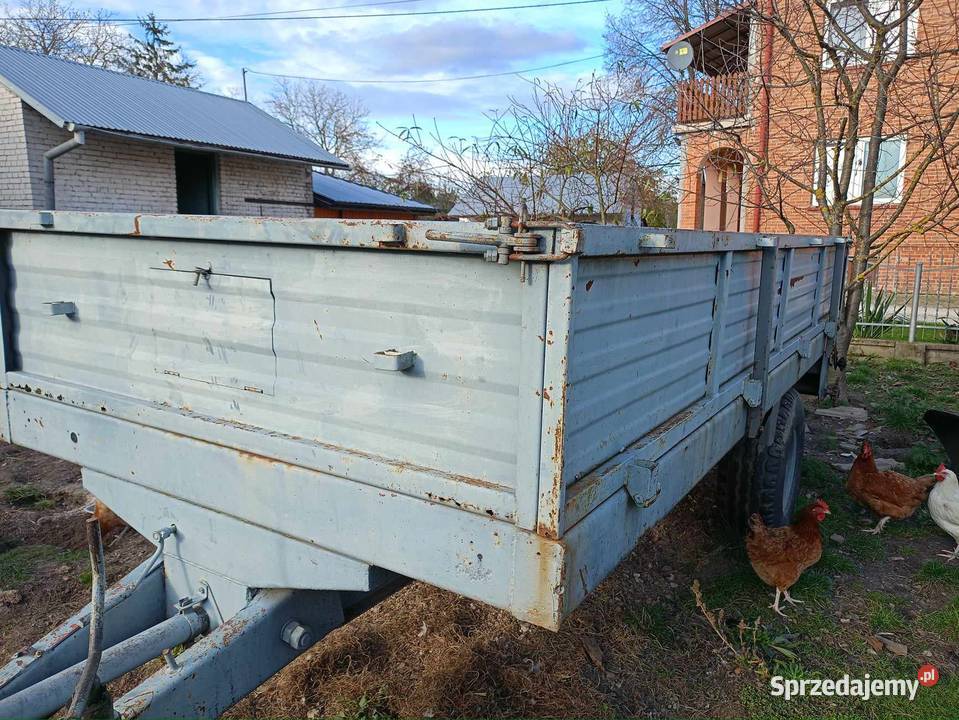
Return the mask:
[(312, 217), (317, 166), (249, 103), (0, 46), (0, 207)]

